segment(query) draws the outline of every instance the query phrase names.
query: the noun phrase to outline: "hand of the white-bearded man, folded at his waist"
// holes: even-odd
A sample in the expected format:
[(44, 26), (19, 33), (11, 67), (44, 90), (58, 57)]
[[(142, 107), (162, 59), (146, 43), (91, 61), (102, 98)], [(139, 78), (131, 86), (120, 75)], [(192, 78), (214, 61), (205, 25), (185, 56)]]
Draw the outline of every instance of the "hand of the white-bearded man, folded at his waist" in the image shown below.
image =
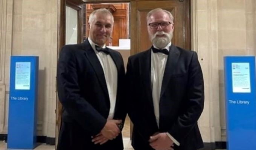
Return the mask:
[(150, 136), (149, 145), (155, 150), (173, 150), (174, 142), (166, 133), (158, 133)]

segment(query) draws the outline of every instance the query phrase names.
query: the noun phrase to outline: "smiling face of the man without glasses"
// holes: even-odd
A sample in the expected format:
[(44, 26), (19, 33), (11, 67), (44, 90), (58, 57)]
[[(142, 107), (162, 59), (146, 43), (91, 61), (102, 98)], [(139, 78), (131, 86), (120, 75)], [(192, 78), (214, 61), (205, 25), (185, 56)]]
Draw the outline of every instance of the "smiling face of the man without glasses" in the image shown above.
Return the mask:
[(98, 12), (94, 15), (94, 20), (88, 24), (89, 37), (95, 44), (103, 46), (111, 37), (114, 21), (108, 13)]

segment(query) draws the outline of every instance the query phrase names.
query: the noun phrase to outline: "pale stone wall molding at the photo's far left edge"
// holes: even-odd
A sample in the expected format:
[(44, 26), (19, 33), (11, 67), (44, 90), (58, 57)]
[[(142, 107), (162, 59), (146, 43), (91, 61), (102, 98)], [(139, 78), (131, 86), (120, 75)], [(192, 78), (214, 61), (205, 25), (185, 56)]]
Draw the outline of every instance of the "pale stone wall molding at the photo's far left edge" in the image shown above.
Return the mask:
[(0, 133), (7, 133), (8, 98), (9, 91), (9, 66), (6, 60), (12, 49), (12, 22), (13, 22), (13, 0), (0, 1)]

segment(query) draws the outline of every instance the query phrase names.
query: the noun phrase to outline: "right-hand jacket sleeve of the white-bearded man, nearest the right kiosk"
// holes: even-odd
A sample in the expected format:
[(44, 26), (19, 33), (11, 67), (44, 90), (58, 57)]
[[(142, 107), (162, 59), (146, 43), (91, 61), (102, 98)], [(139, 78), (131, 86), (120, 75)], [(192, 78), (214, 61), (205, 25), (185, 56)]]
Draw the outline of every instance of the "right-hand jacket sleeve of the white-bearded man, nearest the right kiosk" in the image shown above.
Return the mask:
[(204, 107), (204, 82), (197, 53), (192, 53), (189, 64), (187, 96), (183, 104), (184, 111), (169, 129), (169, 133), (177, 140), (183, 141), (197, 121)]

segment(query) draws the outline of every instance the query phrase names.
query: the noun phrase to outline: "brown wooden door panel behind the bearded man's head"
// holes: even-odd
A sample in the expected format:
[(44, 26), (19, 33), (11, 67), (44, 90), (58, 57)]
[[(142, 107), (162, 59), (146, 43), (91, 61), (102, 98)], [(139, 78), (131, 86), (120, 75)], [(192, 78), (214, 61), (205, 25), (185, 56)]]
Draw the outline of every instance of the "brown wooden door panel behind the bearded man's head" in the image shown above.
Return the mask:
[(191, 49), (190, 1), (155, 0), (131, 2), (131, 54), (144, 51), (152, 45), (148, 37), (146, 15), (155, 8), (169, 10), (174, 16), (172, 43), (181, 48)]

